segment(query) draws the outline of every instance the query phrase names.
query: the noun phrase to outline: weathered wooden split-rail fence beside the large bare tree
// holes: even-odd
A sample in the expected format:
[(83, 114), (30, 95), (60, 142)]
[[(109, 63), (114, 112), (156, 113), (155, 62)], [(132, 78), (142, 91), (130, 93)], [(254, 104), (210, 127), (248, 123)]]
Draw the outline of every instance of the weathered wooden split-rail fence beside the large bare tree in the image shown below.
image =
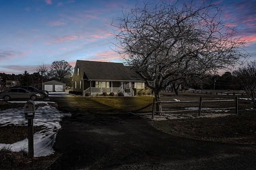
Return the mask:
[[(202, 109), (202, 102), (232, 102), (235, 101), (235, 107), (225, 107), (225, 108), (204, 108)], [(199, 109), (198, 109), (198, 116), (201, 115), (201, 111), (206, 110), (224, 110), (224, 109), (236, 109), (236, 114), (238, 114), (238, 97), (236, 97), (235, 100), (202, 100), (202, 97), (200, 97), (200, 100), (194, 100), (194, 101), (168, 101), (168, 102), (156, 102), (156, 99), (153, 100), (153, 108), (152, 108), (152, 119), (154, 119), (155, 113), (178, 113), (178, 112), (188, 112), (188, 111), (195, 111), (195, 110), (169, 110), (169, 111), (155, 111), (155, 105), (161, 103), (161, 104), (168, 104), (168, 103), (199, 103)]]

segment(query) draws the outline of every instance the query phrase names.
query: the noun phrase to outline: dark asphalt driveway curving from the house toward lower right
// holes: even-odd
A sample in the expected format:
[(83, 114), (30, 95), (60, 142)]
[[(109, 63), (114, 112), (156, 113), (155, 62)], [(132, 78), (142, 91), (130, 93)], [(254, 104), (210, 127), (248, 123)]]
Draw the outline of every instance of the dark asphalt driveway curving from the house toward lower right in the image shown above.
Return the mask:
[(83, 97), (50, 97), (62, 112), (50, 170), (253, 170), (256, 145), (186, 139), (163, 133), (146, 119)]

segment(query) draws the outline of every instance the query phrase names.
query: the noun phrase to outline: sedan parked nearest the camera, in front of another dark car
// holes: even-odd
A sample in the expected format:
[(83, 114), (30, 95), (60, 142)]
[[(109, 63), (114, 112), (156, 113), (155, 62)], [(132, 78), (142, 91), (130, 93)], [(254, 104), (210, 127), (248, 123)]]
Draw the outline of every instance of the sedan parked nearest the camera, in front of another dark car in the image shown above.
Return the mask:
[(0, 98), (8, 101), (11, 99), (31, 99), (36, 100), (43, 98), (40, 93), (30, 92), (24, 88), (10, 88), (0, 92)]

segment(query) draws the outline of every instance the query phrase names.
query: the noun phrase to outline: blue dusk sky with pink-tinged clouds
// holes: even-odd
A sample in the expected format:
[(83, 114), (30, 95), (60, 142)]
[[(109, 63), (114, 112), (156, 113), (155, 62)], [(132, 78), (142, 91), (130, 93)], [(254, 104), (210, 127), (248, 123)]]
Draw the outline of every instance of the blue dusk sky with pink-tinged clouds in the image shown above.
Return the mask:
[[(148, 2), (149, 0), (144, 0)], [(150, 2), (157, 2), (151, 0)], [(194, 2), (200, 0), (194, 0)], [(0, 0), (0, 73), (32, 74), (36, 67), (65, 60), (122, 62), (112, 51), (122, 8), (142, 0)], [(236, 19), (238, 36), (251, 39), (246, 51), (256, 60), (256, 0), (213, 0), (223, 16)]]

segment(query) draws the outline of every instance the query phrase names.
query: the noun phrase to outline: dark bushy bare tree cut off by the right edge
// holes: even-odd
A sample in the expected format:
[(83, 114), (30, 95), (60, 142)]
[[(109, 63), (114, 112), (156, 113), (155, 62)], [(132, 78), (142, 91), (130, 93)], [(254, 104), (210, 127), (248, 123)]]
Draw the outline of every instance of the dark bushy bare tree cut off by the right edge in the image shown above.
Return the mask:
[(256, 61), (233, 71), (235, 81), (240, 85), (253, 101), (256, 109)]

